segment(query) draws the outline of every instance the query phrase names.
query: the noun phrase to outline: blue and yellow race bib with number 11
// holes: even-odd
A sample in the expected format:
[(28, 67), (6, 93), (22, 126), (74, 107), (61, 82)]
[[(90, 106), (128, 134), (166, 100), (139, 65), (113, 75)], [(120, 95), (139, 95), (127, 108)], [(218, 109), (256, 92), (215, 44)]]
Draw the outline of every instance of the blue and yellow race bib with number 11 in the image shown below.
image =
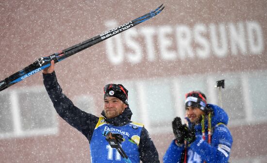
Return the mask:
[[(95, 127), (91, 142), (91, 162), (92, 163), (106, 163), (114, 162), (124, 163), (123, 158), (115, 148), (112, 148), (102, 136), (103, 132), (117, 133), (123, 136), (121, 148), (129, 157), (132, 163), (140, 163), (140, 153), (138, 146), (140, 143), (140, 135), (143, 125), (138, 123), (129, 123), (124, 126), (113, 126), (106, 122), (104, 117), (100, 117), (98, 124)], [(106, 155), (105, 155), (106, 154)]]

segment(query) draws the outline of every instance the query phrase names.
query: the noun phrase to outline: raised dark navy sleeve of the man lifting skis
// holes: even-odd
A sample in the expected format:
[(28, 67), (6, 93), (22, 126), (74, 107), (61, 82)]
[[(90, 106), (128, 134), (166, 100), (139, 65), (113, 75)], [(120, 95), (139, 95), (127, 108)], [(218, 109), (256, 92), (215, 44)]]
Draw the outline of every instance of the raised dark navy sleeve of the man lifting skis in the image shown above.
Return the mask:
[(43, 79), (46, 91), (48, 92), (48, 95), (59, 116), (69, 125), (81, 131), (90, 142), (99, 117), (84, 112), (73, 105), (73, 103), (62, 92), (62, 89), (57, 82), (55, 72), (48, 74), (43, 73)]

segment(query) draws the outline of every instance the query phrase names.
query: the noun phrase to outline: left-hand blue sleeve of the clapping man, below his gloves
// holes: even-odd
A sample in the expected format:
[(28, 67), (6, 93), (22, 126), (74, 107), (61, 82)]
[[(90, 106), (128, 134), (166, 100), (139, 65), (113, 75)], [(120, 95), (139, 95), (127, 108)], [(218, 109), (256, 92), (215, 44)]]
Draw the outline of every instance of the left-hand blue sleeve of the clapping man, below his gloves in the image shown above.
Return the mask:
[(184, 154), (184, 145), (178, 146), (173, 140), (169, 145), (165, 155), (163, 156), (163, 163), (182, 163)]

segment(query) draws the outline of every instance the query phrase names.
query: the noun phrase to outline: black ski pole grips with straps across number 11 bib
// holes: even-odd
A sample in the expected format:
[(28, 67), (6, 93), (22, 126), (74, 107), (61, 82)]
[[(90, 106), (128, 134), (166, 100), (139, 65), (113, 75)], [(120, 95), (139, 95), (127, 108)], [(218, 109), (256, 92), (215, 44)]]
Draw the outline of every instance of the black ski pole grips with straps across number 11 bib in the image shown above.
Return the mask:
[(125, 163), (132, 163), (131, 160), (128, 158), (126, 153), (121, 148), (120, 144), (123, 142), (123, 137), (120, 134), (114, 134), (112, 132), (103, 132), (103, 136), (106, 137), (106, 141), (112, 148), (116, 148), (120, 156), (123, 158)]

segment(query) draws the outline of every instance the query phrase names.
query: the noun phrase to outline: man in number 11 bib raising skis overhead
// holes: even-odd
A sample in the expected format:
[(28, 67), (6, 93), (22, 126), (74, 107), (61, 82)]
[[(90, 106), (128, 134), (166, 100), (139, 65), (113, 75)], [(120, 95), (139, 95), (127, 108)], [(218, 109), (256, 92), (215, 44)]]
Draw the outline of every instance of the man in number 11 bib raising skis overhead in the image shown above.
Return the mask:
[(120, 84), (103, 88), (102, 117), (78, 109), (63, 94), (54, 61), (43, 71), (44, 85), (57, 113), (87, 138), (92, 163), (159, 163), (158, 152), (142, 124), (131, 121), (128, 91)]

